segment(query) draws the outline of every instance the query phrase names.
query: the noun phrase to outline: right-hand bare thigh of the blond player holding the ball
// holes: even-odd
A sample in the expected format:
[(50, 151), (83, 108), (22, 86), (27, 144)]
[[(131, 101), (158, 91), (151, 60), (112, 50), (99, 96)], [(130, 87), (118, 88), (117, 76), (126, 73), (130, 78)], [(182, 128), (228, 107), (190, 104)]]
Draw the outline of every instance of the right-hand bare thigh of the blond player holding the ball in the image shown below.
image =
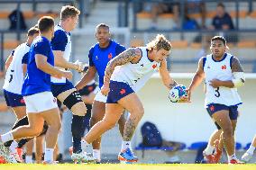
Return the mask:
[(125, 97), (120, 99), (118, 103), (122, 105), (123, 108), (126, 109), (128, 112), (130, 112), (131, 115), (141, 115), (144, 113), (142, 102), (139, 99), (138, 95), (135, 93), (126, 95)]

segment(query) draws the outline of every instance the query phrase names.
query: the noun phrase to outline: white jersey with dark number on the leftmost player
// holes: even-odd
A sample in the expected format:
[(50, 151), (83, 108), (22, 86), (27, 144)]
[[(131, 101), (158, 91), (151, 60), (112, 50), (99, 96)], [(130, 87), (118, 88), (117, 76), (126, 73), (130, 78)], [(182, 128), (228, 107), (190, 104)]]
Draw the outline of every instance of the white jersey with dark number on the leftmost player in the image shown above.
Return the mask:
[(3, 88), (13, 94), (22, 94), (23, 88), (23, 57), (30, 51), (27, 43), (19, 45), (14, 49), (13, 60), (8, 67), (5, 75), (5, 84)]

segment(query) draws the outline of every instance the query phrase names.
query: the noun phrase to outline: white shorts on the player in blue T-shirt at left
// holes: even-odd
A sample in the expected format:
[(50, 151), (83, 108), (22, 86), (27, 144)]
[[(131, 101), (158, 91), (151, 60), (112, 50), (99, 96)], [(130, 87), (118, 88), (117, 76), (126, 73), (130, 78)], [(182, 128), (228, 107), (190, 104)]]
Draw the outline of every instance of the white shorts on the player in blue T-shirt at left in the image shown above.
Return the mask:
[(44, 112), (53, 108), (58, 108), (57, 99), (51, 92), (41, 92), (24, 96), (27, 112)]

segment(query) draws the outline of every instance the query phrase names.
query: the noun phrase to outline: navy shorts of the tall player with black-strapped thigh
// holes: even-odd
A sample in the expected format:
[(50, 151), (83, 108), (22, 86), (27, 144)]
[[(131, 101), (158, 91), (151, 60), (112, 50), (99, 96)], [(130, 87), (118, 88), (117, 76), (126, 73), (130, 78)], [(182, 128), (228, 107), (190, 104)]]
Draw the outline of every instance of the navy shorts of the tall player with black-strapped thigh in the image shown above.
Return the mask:
[(66, 80), (66, 84), (50, 84), (51, 88), (51, 93), (53, 94), (54, 97), (57, 97), (59, 94), (70, 90), (72, 88), (75, 88), (74, 85), (69, 81)]

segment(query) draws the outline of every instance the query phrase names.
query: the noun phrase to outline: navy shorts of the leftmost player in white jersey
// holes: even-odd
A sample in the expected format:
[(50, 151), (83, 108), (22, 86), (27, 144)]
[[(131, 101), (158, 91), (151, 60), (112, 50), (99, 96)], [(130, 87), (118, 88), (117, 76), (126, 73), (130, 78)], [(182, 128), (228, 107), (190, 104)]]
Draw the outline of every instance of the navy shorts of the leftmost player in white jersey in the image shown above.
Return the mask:
[(4, 90), (4, 95), (7, 106), (18, 107), (26, 105), (23, 100), (23, 95), (21, 94), (13, 94), (11, 92)]

